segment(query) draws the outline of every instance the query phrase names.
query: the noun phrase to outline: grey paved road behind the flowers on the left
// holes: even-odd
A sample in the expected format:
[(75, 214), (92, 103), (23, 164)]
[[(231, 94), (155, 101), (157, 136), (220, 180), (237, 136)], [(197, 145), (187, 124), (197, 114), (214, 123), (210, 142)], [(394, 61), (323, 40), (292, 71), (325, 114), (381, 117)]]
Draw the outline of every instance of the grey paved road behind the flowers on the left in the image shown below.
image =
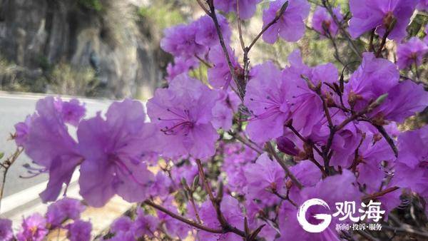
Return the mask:
[[(44, 98), (41, 95), (26, 95), (26, 94), (11, 94), (0, 91), (0, 152), (5, 155), (13, 153), (16, 145), (14, 141), (8, 140), (10, 133), (14, 133), (14, 125), (25, 119), (31, 113), (34, 113), (36, 102)], [(66, 99), (64, 97), (64, 99)], [(81, 101), (86, 103), (86, 117), (95, 116), (97, 111), (106, 112), (111, 101), (94, 100), (81, 98)], [(71, 132), (75, 129), (69, 129)], [(35, 178), (23, 179), (19, 175), (27, 175), (26, 169), (22, 167), (25, 163), (31, 163), (25, 154), (14, 163), (6, 178), (6, 187), (4, 189), (4, 197), (17, 193), (26, 188), (30, 188), (36, 184), (47, 180), (47, 175), (39, 175)]]

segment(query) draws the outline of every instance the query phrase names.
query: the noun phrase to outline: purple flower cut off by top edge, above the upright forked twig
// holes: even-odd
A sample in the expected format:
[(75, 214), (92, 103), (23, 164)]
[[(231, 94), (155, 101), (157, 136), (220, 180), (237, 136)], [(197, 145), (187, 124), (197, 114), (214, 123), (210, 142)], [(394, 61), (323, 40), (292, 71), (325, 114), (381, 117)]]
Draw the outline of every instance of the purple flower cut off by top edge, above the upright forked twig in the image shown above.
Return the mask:
[[(256, 5), (262, 0), (240, 0), (239, 1), (239, 15), (240, 19), (250, 19), (255, 14)], [(236, 12), (238, 9), (237, 1), (234, 0), (214, 0), (216, 9), (226, 13), (230, 11)]]

